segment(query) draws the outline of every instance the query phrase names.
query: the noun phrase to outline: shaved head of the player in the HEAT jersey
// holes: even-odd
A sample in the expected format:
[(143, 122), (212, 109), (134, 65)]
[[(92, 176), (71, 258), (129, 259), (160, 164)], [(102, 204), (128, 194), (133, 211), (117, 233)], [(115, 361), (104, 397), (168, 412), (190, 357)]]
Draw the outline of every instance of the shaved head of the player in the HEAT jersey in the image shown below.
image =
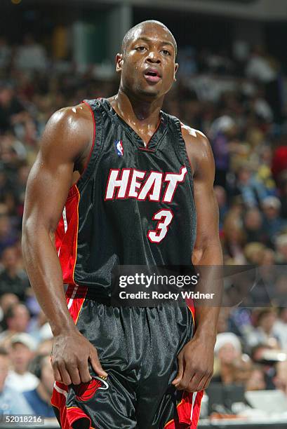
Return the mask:
[(116, 55), (121, 89), (145, 99), (163, 97), (175, 81), (177, 45), (159, 21), (144, 21), (128, 30)]

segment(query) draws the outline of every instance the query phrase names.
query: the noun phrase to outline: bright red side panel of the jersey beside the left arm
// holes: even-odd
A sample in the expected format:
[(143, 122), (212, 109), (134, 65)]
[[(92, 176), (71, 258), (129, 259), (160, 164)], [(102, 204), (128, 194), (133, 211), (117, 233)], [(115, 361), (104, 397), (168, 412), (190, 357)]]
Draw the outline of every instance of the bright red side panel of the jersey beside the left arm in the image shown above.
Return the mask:
[(76, 247), (79, 231), (79, 200), (80, 194), (76, 184), (69, 191), (65, 210), (67, 219), (67, 231), (64, 228), (64, 219), (60, 219), (55, 231), (56, 250), (59, 255), (62, 268), (63, 282), (75, 284), (74, 268), (76, 266)]

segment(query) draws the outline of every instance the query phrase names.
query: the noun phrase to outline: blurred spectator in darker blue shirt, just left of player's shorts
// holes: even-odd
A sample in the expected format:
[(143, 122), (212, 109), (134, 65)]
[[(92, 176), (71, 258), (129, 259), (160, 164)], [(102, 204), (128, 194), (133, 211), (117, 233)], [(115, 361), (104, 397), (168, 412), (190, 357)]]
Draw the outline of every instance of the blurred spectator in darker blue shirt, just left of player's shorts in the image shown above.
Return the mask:
[(36, 388), (27, 390), (23, 396), (36, 416), (55, 418), (55, 412), (51, 406), (54, 376), (50, 355), (36, 356), (32, 362), (32, 367), (34, 367), (34, 374), (40, 381)]

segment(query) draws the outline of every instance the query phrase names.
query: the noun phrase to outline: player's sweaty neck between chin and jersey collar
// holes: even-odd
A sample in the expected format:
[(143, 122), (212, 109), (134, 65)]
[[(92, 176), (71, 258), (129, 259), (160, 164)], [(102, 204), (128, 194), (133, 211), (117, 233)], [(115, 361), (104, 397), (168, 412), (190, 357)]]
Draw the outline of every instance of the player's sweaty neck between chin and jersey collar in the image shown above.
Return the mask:
[(133, 95), (126, 95), (124, 91), (119, 89), (117, 95), (112, 97), (111, 103), (116, 112), (124, 118), (124, 121), (133, 124), (135, 128), (156, 129), (163, 97), (147, 102), (138, 100)]

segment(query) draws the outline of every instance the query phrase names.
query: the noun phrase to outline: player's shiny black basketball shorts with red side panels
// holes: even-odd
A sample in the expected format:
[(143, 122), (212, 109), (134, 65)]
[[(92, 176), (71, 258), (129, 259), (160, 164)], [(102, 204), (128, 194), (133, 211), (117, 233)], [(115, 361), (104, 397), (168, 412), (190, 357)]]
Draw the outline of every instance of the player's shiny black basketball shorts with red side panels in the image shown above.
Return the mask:
[(192, 338), (194, 308), (114, 307), (69, 286), (67, 306), (98, 350), (107, 379), (90, 367), (90, 383), (55, 382), (51, 404), (62, 429), (196, 429), (203, 392), (178, 391), (177, 355)]

